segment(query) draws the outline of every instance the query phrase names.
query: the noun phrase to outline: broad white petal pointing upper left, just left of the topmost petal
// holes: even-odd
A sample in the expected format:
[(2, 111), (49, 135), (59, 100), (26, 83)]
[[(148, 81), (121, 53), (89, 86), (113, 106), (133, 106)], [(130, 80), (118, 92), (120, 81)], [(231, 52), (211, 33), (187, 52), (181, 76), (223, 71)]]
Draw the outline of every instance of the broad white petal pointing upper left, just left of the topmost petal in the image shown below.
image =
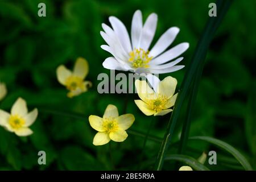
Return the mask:
[(118, 36), (123, 48), (126, 52), (131, 52), (131, 42), (125, 25), (116, 17), (110, 16), (111, 23), (115, 34)]

